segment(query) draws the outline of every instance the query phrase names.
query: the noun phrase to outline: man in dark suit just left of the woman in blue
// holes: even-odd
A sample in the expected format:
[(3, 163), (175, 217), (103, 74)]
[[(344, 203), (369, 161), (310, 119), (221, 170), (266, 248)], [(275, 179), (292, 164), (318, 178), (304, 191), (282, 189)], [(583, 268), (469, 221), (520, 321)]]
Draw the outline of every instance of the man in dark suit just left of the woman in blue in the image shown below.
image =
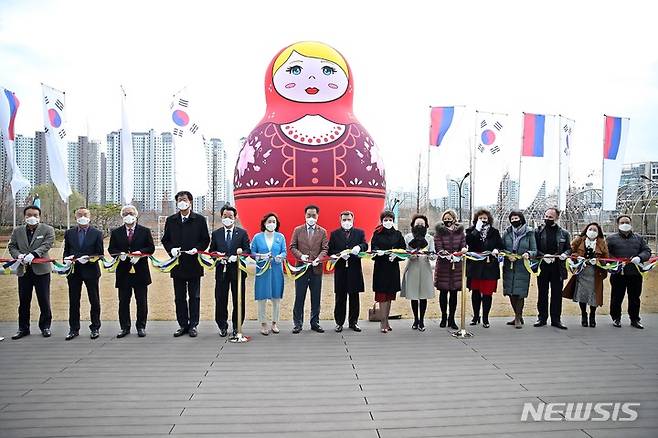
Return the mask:
[[(220, 210), (222, 225), (213, 231), (210, 239), (210, 251), (226, 254), (229, 259), (226, 263), (218, 263), (215, 268), (215, 322), (219, 327), (219, 336), (226, 336), (228, 330), (228, 290), (231, 288), (233, 297), (233, 312), (231, 321), (233, 325), (233, 336), (238, 330), (238, 255), (242, 251), (249, 251), (249, 236), (247, 232), (235, 226), (238, 211), (229, 205)], [(240, 251), (242, 250), (242, 251)], [(247, 274), (240, 271), (242, 275), (242, 306), (241, 315), (244, 322), (245, 313), (245, 279)]]

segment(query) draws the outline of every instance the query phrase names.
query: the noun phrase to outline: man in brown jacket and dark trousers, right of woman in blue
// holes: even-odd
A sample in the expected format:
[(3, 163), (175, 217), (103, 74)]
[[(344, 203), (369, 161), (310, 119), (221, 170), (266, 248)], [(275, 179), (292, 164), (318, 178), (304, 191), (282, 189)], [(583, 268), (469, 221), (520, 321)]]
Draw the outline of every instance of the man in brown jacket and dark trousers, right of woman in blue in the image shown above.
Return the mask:
[(322, 259), (327, 256), (327, 230), (317, 225), (320, 209), (309, 205), (304, 209), (306, 223), (292, 232), (290, 251), (297, 265), (311, 263), (304, 275), (295, 280), (295, 305), (292, 311), (293, 333), (302, 331), (306, 290), (311, 290), (311, 330), (324, 333), (320, 327), (320, 291), (322, 289)]

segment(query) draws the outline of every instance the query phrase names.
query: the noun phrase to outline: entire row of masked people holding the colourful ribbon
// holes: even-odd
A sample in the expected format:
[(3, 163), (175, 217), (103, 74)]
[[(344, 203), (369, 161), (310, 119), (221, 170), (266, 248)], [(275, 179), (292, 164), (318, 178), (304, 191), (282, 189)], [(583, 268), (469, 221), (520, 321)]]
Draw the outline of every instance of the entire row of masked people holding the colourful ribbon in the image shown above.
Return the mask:
[[(360, 313), (359, 294), (365, 290), (360, 252), (368, 249), (363, 230), (354, 228), (354, 215), (345, 211), (340, 216), (340, 227), (330, 235), (318, 225), (319, 208), (309, 205), (305, 211), (305, 223), (295, 228), (290, 245), (286, 244), (283, 234), (279, 233), (279, 219), (275, 213), (266, 215), (261, 221), (261, 232), (250, 241), (246, 230), (236, 223), (237, 211), (234, 207), (222, 209), (222, 227), (211, 235), (205, 218), (192, 210), (193, 198), (189, 192), (179, 192), (176, 195), (178, 212), (167, 218), (162, 244), (166, 251), (178, 257), (178, 264), (171, 270), (173, 279), (176, 318), (179, 329), (174, 333), (178, 337), (189, 334), (197, 335), (200, 308), (200, 283), (204, 274), (203, 267), (198, 263), (196, 254), (205, 251), (228, 255), (228, 259), (218, 263), (215, 269), (215, 321), (220, 336), (228, 334), (228, 295), (231, 292), (233, 314), (231, 315), (233, 334), (237, 332), (237, 289), (238, 273), (242, 278), (241, 315), (245, 315), (246, 273), (238, 269), (238, 255), (245, 251), (251, 254), (268, 254), (271, 260), (266, 272), (259, 272), (255, 279), (254, 298), (258, 302), (258, 319), (261, 323), (261, 333), (279, 333), (277, 322), (280, 319), (280, 302), (283, 297), (283, 261), (288, 251), (299, 261), (311, 263), (301, 276), (295, 280), (295, 303), (293, 310), (293, 333), (299, 333), (303, 326), (303, 309), (307, 291), (311, 295), (311, 329), (317, 332), (324, 330), (319, 323), (320, 296), (322, 287), (322, 263), (327, 255), (342, 254), (335, 264), (334, 292), (335, 331), (343, 330), (347, 317), (352, 330), (361, 331), (358, 326)], [(52, 227), (40, 223), (40, 209), (36, 206), (24, 210), (25, 226), (17, 227), (12, 233), (9, 250), (12, 257), (20, 259), (18, 268), (19, 292), (19, 328), (14, 339), (19, 339), (30, 333), (30, 302), (32, 290), (36, 291), (41, 308), (39, 328), (43, 336), (50, 336), (50, 264), (32, 263), (34, 258), (48, 258), (48, 250), (54, 242)], [(74, 260), (74, 269), (67, 276), (69, 286), (69, 333), (67, 340), (79, 335), (80, 331), (80, 296), (82, 285), (87, 290), (90, 302), (90, 336), (95, 339), (100, 330), (100, 268), (97, 263), (89, 263), (90, 255), (102, 255), (104, 252), (102, 233), (90, 225), (91, 215), (88, 209), (79, 208), (75, 211), (77, 226), (66, 231), (64, 236), (64, 259)], [(136, 329), (140, 337), (145, 336), (148, 313), (147, 290), (151, 283), (149, 265), (146, 257), (129, 257), (128, 254), (152, 254), (155, 245), (151, 231), (137, 223), (138, 213), (134, 206), (125, 206), (121, 210), (124, 225), (112, 230), (108, 251), (119, 255), (116, 268), (115, 287), (119, 297), (119, 323), (121, 327), (118, 337), (130, 333), (130, 301), (135, 295), (137, 304)], [(454, 211), (448, 210), (442, 216), (442, 221), (436, 226), (436, 233), (428, 232), (429, 222), (423, 215), (412, 219), (412, 232), (403, 236), (395, 229), (394, 214), (385, 211), (380, 215), (380, 225), (371, 238), (371, 251), (374, 253), (374, 271), (372, 288), (382, 310), (382, 333), (391, 330), (388, 316), (391, 301), (395, 300), (397, 292), (411, 302), (414, 314), (413, 329), (425, 330), (424, 315), (427, 300), (434, 297), (434, 288), (439, 290), (441, 308), (441, 327), (449, 326), (457, 329), (455, 309), (457, 293), (462, 288), (461, 261), (451, 261), (449, 258), (411, 257), (405, 267), (400, 281), (400, 259), (385, 254), (392, 249), (408, 251), (428, 251), (448, 255), (465, 251), (491, 252), (492, 256), (485, 261), (467, 261), (467, 287), (471, 290), (474, 317), (472, 325), (480, 322), (482, 308), (482, 323), (489, 327), (488, 315), (491, 309), (492, 295), (500, 278), (500, 267), (494, 260), (498, 251), (522, 255), (525, 258), (544, 256), (541, 262), (541, 273), (538, 277), (538, 320), (535, 326), (547, 324), (549, 316), (551, 324), (566, 328), (561, 320), (562, 296), (573, 298), (581, 304), (583, 325), (595, 325), (596, 306), (601, 306), (602, 281), (606, 273), (594, 266), (586, 267), (578, 276), (573, 276), (565, 288), (563, 282), (567, 278), (564, 263), (554, 263), (558, 258), (565, 260), (572, 252), (583, 257), (624, 257), (633, 263), (646, 261), (650, 250), (644, 240), (632, 233), (630, 218), (620, 216), (617, 220), (619, 232), (603, 237), (598, 224), (590, 224), (581, 236), (570, 242), (569, 233), (557, 224), (559, 211), (550, 208), (545, 213), (545, 224), (537, 230), (531, 230), (526, 224), (521, 212), (512, 212), (509, 216), (510, 226), (501, 236), (493, 227), (493, 218), (486, 210), (478, 211), (473, 218), (473, 225), (464, 230), (458, 223)], [(596, 233), (596, 236), (595, 236)], [(594, 243), (592, 243), (594, 242)], [(609, 250), (608, 247), (611, 249)], [(346, 252), (345, 250), (349, 250)], [(555, 258), (551, 257), (555, 256)], [(433, 266), (435, 265), (435, 266)], [(261, 265), (257, 268), (264, 269)], [(503, 264), (503, 293), (509, 296), (515, 318), (508, 324), (517, 328), (523, 326), (523, 305), (528, 295), (530, 274), (525, 270), (522, 260), (505, 259)], [(611, 276), (612, 300), (611, 316), (615, 326), (621, 325), (621, 304), (626, 290), (629, 294), (629, 316), (634, 327), (641, 328), (639, 307), (642, 289), (642, 277), (636, 269), (626, 266), (623, 275)], [(564, 290), (563, 290), (564, 289)], [(266, 320), (266, 302), (272, 303), (271, 325)], [(349, 302), (349, 314), (347, 304)], [(587, 306), (590, 308), (590, 318), (587, 319)]]

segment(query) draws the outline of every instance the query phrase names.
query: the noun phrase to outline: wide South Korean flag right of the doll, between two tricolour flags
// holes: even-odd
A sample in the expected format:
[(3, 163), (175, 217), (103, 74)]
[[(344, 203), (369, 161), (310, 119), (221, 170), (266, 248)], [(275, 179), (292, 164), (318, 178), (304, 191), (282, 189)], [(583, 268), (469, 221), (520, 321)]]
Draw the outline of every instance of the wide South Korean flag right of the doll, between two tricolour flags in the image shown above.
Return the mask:
[[(509, 171), (512, 159), (510, 147), (504, 139), (507, 115), (476, 111), (476, 136), (473, 150), (473, 206), (484, 207), (498, 201), (503, 176)], [(517, 164), (518, 166), (518, 164)]]

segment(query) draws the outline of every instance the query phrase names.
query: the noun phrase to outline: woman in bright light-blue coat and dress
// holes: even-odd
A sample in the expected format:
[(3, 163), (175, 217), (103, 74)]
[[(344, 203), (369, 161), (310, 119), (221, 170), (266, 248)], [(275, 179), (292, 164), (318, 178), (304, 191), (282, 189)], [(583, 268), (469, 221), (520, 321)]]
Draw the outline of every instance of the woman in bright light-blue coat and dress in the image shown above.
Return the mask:
[[(260, 233), (256, 234), (251, 241), (251, 254), (256, 258), (256, 279), (254, 287), (254, 299), (258, 302), (258, 321), (260, 322), (261, 334), (270, 334), (267, 325), (266, 305), (267, 300), (272, 302), (272, 333), (278, 334), (280, 321), (281, 299), (283, 298), (283, 261), (286, 259), (286, 238), (279, 233), (279, 217), (274, 213), (267, 213), (260, 221)], [(259, 259), (259, 255), (269, 256), (267, 259)], [(268, 262), (269, 260), (269, 262)], [(262, 272), (269, 263), (269, 269)]]

